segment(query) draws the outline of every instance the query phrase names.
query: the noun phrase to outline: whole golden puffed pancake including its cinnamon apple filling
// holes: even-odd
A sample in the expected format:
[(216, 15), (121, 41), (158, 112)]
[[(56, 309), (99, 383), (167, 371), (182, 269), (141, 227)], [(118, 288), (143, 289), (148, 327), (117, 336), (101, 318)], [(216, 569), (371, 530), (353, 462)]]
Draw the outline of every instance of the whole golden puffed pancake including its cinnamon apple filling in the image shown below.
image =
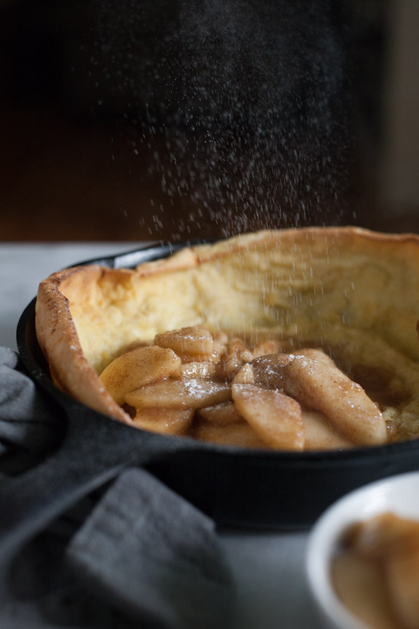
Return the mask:
[(419, 436), (419, 236), (259, 231), (41, 282), (55, 384), (145, 430), (240, 447)]

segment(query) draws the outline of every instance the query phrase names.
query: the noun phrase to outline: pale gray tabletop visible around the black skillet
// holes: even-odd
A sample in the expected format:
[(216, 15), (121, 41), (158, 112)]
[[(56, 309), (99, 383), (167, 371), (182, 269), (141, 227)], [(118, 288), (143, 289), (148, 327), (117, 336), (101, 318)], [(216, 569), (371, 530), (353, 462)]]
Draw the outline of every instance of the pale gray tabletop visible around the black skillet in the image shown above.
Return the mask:
[[(17, 349), (25, 306), (47, 275), (82, 260), (139, 243), (0, 244), (0, 345)], [(305, 576), (307, 533), (220, 530), (237, 584), (231, 629), (320, 629)]]

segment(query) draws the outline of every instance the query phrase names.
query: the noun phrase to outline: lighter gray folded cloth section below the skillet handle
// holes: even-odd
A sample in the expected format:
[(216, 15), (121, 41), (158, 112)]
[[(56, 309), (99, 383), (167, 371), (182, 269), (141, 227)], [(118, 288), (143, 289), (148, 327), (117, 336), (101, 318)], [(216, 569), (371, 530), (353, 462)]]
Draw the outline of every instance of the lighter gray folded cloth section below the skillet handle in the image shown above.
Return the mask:
[(92, 591), (149, 627), (228, 627), (232, 581), (214, 522), (145, 470), (122, 472), (66, 555)]

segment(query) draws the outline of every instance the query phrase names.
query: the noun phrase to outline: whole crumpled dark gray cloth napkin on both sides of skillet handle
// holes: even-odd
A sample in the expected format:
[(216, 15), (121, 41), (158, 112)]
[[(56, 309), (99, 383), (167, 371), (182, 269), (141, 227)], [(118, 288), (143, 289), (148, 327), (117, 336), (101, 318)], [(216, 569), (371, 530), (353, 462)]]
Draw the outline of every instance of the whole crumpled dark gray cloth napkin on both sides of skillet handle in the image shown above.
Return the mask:
[[(7, 348), (0, 376), (0, 462), (45, 454), (61, 429), (56, 407)], [(0, 518), (7, 509), (0, 504)], [(29, 542), (7, 578), (1, 629), (218, 629), (229, 626), (235, 598), (214, 522), (140, 468)]]

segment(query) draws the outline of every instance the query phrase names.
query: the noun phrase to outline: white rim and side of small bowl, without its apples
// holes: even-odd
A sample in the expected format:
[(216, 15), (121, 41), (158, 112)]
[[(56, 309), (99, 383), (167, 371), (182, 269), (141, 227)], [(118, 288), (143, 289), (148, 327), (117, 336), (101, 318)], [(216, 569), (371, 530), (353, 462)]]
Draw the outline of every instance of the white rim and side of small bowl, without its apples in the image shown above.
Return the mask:
[(307, 547), (307, 577), (327, 626), (370, 629), (337, 598), (330, 581), (330, 561), (348, 527), (387, 511), (419, 519), (419, 472), (399, 474), (356, 489), (337, 500), (314, 524)]

